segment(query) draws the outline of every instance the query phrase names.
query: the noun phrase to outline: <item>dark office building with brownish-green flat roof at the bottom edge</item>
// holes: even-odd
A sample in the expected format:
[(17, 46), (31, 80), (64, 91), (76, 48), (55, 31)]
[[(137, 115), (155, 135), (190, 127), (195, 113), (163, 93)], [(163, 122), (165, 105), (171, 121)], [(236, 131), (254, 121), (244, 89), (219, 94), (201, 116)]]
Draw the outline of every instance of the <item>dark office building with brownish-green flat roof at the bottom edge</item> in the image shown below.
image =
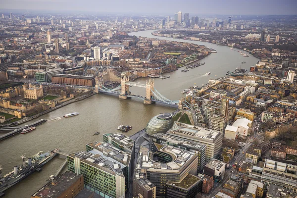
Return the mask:
[(166, 183), (166, 198), (197, 198), (197, 194), (202, 191), (203, 175), (188, 174), (182, 182)]

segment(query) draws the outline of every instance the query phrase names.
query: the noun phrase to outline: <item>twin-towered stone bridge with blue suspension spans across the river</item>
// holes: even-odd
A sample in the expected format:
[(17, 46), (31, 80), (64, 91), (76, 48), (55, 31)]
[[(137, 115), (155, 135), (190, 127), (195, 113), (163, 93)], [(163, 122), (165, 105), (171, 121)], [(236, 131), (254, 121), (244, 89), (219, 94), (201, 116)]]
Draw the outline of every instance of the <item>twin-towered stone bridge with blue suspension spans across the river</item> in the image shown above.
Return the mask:
[[(132, 86), (145, 88), (146, 95), (140, 96), (140, 95), (132, 94), (129, 91), (129, 88)], [(179, 104), (179, 100), (171, 100), (162, 96), (154, 88), (154, 81), (152, 79), (149, 79), (146, 84), (142, 84), (142, 83), (131, 82), (129, 77), (126, 75), (122, 75), (121, 84), (118, 87), (114, 89), (108, 89), (103, 85), (96, 85), (95, 92), (119, 95), (119, 99), (127, 99), (128, 97), (135, 97), (135, 98), (143, 99), (144, 104), (151, 104), (152, 102), (160, 102), (160, 103), (174, 105), (174, 106), (178, 106)]]

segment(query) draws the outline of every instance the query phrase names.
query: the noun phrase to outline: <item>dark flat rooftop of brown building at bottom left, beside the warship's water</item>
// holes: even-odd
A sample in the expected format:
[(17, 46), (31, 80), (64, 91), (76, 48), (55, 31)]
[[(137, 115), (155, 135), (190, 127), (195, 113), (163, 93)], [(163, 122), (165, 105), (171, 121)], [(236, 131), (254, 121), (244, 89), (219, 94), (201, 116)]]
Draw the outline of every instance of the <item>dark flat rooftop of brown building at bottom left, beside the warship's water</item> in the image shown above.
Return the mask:
[(54, 178), (52, 182), (46, 184), (39, 191), (34, 193), (32, 197), (38, 196), (58, 198), (64, 191), (66, 191), (77, 180), (79, 180), (80, 177), (82, 177), (82, 175), (77, 175), (76, 173), (66, 171), (62, 175)]

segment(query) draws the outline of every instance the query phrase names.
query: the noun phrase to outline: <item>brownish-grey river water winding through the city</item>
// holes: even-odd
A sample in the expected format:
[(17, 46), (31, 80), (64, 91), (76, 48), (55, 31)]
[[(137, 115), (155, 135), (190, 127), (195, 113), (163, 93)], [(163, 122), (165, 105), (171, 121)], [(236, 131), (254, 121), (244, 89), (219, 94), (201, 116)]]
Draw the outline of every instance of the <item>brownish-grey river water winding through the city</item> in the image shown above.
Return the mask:
[[(207, 83), (209, 78), (224, 76), (226, 71), (233, 71), (236, 67), (248, 69), (257, 62), (253, 56), (243, 57), (237, 50), (231, 50), (225, 46), (217, 46), (211, 43), (187, 41), (156, 37), (151, 35), (152, 31), (141, 31), (129, 35), (175, 40), (180, 42), (191, 42), (205, 45), (216, 49), (200, 62), (203, 66), (190, 69), (189, 72), (177, 70), (171, 72), (170, 78), (155, 79), (155, 88), (166, 98), (177, 100), (183, 95), (181, 91), (193, 86), (194, 83), (202, 85)], [(242, 61), (247, 62), (241, 64)], [(211, 75), (204, 75), (211, 72)], [(217, 76), (215, 76), (217, 75)], [(145, 83), (147, 78), (138, 79), (138, 82)], [(131, 87), (133, 94), (145, 95), (145, 89)], [(141, 99), (119, 100), (117, 96), (97, 94), (88, 99), (71, 103), (62, 108), (56, 109), (38, 119), (47, 119), (48, 122), (38, 126), (35, 131), (27, 134), (19, 134), (0, 142), (0, 165), (2, 172), (6, 174), (13, 166), (21, 164), (20, 156), (33, 155), (38, 151), (48, 151), (60, 148), (62, 152), (71, 153), (85, 150), (87, 143), (102, 141), (104, 133), (116, 132), (120, 124), (131, 125), (133, 129), (127, 133), (131, 135), (144, 128), (148, 121), (161, 112), (172, 112), (175, 108), (164, 104), (144, 105)], [(62, 118), (64, 114), (78, 112), (78, 116)], [(98, 136), (93, 135), (100, 132)], [(0, 134), (1, 135), (1, 134)], [(47, 163), (40, 173), (33, 173), (25, 180), (5, 191), (5, 198), (29, 198), (38, 189), (46, 184), (46, 179), (55, 174), (65, 158), (56, 156)]]

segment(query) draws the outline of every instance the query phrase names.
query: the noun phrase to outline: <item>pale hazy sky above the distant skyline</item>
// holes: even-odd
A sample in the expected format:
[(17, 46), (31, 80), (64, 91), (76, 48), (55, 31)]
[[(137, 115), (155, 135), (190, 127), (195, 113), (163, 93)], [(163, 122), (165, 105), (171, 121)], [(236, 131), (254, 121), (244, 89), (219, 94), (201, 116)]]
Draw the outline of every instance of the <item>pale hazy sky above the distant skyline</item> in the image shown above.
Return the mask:
[(1, 8), (164, 14), (297, 14), (297, 0), (0, 0)]

